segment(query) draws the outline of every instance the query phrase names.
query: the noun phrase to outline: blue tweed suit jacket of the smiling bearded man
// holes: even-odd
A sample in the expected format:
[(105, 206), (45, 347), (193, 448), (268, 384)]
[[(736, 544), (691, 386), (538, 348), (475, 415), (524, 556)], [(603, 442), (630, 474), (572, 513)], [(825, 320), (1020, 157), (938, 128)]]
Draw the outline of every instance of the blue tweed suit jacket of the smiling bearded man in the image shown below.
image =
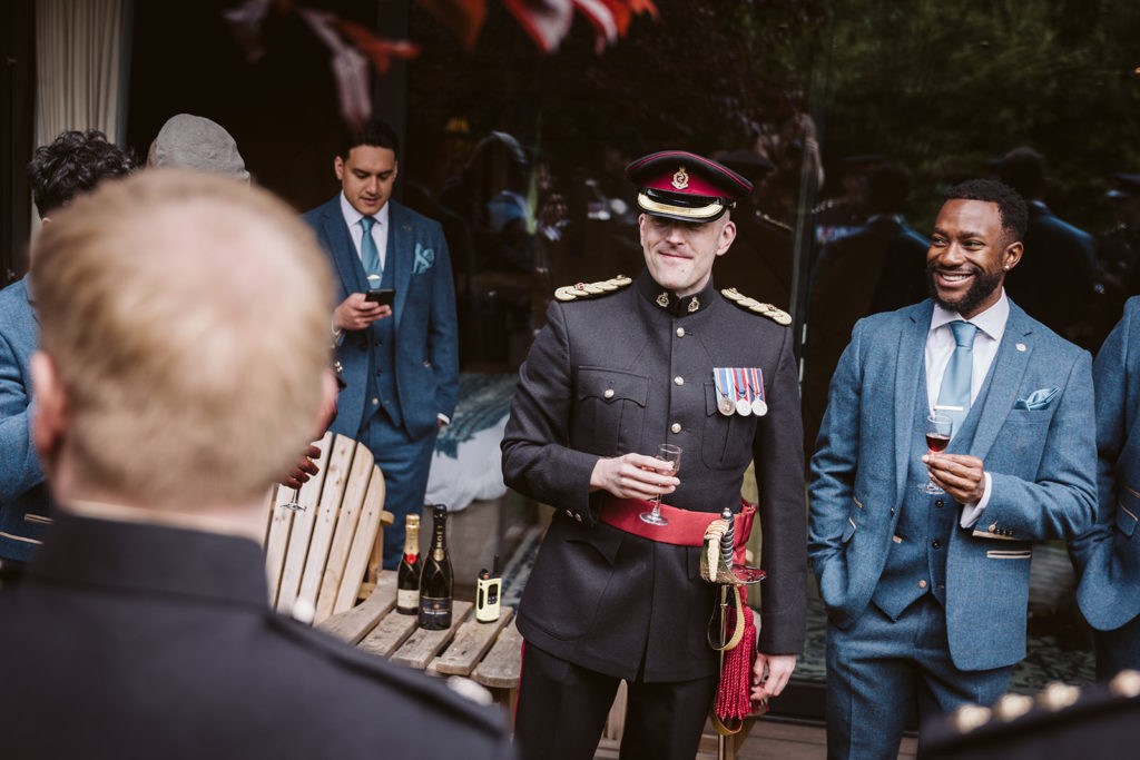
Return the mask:
[[(876, 590), (909, 488), (933, 309), (928, 300), (860, 320), (831, 381), (812, 459), (808, 554), (840, 628)], [(954, 530), (946, 556), (946, 630), (962, 670), (1025, 656), (1032, 545), (1085, 532), (1096, 502), (1089, 353), (1011, 302), (990, 373), (968, 453), (991, 474), (991, 498), (972, 530)], [(1042, 389), (1058, 392), (1025, 403)]]

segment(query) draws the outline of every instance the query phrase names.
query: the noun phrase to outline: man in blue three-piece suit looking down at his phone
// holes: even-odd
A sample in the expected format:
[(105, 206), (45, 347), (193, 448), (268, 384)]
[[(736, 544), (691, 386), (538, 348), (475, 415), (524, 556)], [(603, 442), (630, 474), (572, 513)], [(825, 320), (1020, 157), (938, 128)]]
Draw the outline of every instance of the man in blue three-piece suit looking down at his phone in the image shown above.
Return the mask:
[[(363, 441), (384, 473), (384, 566), (420, 514), (439, 427), (459, 385), (455, 286), (439, 222), (390, 201), (399, 142), (383, 122), (353, 133), (333, 162), (341, 193), (304, 214), (336, 275), (336, 370), (348, 384), (332, 431)], [(386, 303), (369, 289), (394, 288)]]

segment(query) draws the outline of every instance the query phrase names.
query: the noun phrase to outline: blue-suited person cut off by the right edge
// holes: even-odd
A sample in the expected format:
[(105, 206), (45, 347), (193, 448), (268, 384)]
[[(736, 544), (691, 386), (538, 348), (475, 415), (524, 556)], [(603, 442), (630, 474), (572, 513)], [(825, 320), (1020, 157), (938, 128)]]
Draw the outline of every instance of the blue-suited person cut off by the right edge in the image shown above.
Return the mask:
[(1124, 304), (1093, 365), (1097, 525), (1069, 544), (1076, 599), (1096, 629), (1097, 677), (1140, 668), (1140, 297)]

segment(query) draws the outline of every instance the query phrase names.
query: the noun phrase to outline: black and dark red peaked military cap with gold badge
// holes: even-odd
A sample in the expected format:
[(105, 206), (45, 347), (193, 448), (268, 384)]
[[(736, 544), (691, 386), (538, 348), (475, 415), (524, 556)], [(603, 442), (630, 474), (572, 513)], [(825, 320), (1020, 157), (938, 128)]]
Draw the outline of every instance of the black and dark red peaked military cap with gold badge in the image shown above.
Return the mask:
[(710, 222), (752, 191), (752, 183), (715, 161), (685, 150), (661, 150), (626, 166), (637, 186), (637, 206), (648, 214)]

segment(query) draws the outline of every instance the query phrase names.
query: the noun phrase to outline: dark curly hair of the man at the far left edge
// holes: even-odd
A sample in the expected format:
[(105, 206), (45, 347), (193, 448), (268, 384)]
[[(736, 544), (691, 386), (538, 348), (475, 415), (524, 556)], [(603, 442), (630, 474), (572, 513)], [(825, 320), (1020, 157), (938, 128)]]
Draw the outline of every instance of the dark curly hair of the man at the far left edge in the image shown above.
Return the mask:
[(27, 164), (27, 179), (40, 216), (47, 216), (101, 180), (125, 177), (138, 166), (130, 150), (107, 142), (107, 136), (99, 130), (72, 130), (35, 149)]

